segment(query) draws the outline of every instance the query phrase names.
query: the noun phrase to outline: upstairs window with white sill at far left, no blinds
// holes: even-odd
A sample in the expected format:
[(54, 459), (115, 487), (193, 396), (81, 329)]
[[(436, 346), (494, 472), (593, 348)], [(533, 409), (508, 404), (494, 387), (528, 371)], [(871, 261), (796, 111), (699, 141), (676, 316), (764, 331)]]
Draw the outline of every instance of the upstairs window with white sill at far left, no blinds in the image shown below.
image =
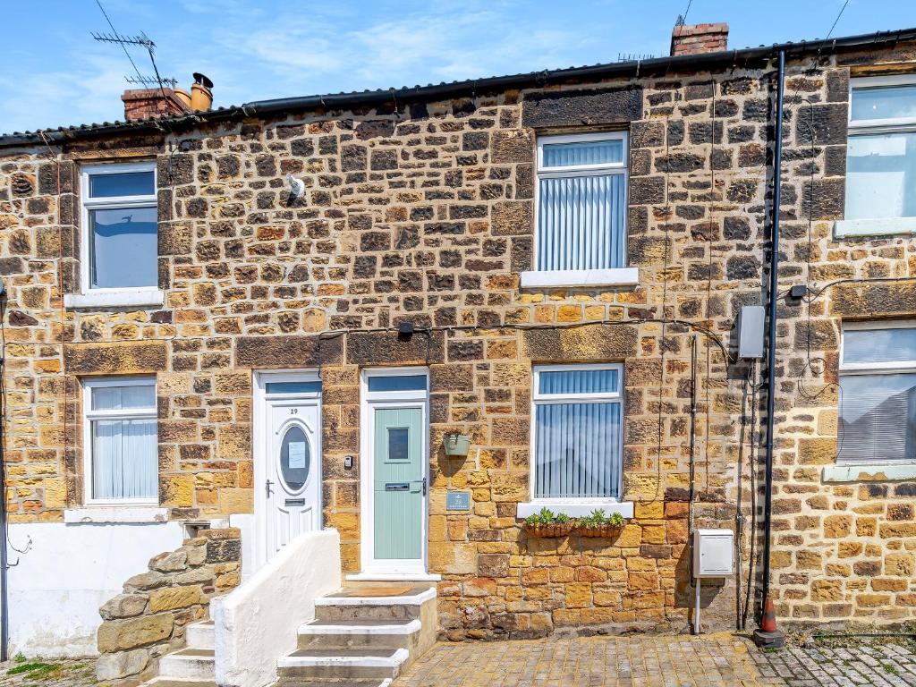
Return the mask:
[(81, 293), (71, 307), (161, 305), (156, 163), (81, 169)]

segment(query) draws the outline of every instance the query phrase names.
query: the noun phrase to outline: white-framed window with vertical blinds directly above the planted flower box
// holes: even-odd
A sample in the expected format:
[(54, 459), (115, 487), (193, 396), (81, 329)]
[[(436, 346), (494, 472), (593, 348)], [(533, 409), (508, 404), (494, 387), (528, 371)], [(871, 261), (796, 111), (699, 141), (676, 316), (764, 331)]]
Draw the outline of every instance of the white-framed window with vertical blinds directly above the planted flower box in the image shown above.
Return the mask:
[(538, 365), (532, 403), (535, 499), (616, 499), (623, 365)]

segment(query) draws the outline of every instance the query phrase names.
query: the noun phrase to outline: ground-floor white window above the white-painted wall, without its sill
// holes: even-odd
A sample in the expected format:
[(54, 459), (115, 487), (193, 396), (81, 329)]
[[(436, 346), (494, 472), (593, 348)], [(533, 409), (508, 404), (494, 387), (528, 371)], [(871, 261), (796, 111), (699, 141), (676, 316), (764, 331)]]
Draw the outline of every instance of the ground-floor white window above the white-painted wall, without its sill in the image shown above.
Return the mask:
[(86, 505), (158, 504), (155, 377), (82, 381)]

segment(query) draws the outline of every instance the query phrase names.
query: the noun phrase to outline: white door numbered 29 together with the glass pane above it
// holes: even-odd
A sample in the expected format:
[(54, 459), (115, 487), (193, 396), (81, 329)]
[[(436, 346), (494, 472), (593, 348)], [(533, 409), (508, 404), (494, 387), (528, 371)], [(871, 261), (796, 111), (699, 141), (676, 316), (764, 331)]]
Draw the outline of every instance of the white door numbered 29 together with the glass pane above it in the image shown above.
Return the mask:
[(322, 395), (321, 382), (301, 373), (260, 382), (256, 522), (266, 562), (300, 533), (322, 528)]

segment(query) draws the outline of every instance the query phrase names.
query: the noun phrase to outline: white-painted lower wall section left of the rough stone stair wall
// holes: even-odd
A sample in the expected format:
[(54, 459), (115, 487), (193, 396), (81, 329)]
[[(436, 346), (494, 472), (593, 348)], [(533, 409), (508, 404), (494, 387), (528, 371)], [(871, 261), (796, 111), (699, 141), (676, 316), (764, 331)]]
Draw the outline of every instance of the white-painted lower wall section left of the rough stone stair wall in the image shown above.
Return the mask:
[(179, 522), (10, 525), (10, 655), (96, 655), (99, 606), (183, 537)]

